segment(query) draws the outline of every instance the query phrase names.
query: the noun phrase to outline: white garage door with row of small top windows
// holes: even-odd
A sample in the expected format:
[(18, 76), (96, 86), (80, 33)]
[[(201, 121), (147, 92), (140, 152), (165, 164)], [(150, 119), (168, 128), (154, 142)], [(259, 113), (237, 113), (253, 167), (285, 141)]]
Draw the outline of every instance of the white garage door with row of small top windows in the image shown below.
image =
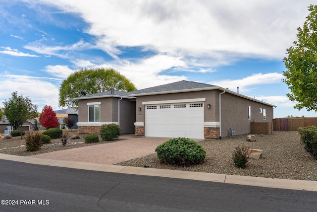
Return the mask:
[(204, 103), (146, 105), (145, 136), (204, 139)]

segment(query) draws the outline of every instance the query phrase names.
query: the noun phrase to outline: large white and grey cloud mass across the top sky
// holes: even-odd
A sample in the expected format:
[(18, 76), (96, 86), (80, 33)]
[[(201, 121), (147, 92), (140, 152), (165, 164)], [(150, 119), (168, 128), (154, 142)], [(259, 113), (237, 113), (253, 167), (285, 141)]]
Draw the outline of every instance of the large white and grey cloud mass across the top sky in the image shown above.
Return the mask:
[[(62, 11), (80, 14), (86, 33), (113, 58), (118, 46), (148, 47), (159, 53), (214, 54), (281, 58), (308, 14), (308, 0), (85, 1), (47, 0)], [(307, 2), (307, 3), (305, 3)], [(107, 12), (104, 9), (107, 8)], [(115, 17), (115, 18), (113, 18)]]

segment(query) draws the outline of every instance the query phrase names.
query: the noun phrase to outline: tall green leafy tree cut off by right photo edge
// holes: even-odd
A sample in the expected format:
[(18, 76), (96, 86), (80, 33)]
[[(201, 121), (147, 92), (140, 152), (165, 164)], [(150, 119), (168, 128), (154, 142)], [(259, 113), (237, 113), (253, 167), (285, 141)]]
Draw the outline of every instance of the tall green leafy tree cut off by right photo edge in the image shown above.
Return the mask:
[(291, 90), (288, 98), (297, 102), (294, 108), (317, 112), (317, 5), (308, 8), (310, 14), (304, 26), (297, 28), (297, 41), (283, 60), (287, 68), (283, 81)]

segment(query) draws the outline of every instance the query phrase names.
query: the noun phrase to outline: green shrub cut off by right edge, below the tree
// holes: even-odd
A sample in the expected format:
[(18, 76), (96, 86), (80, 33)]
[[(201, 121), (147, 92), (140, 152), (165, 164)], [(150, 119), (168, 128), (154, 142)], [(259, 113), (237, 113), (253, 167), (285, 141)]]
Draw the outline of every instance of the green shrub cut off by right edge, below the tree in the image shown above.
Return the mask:
[(301, 143), (305, 150), (317, 159), (317, 127), (301, 127), (298, 133), (301, 135)]

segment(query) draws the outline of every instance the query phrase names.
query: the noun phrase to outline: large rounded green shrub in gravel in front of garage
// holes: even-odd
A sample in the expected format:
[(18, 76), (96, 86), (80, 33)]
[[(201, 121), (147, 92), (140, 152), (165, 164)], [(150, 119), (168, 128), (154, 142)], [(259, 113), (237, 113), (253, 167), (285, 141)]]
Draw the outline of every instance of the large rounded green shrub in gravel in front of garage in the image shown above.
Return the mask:
[(205, 161), (206, 151), (196, 141), (187, 138), (170, 139), (155, 149), (159, 160), (172, 165), (194, 165)]

